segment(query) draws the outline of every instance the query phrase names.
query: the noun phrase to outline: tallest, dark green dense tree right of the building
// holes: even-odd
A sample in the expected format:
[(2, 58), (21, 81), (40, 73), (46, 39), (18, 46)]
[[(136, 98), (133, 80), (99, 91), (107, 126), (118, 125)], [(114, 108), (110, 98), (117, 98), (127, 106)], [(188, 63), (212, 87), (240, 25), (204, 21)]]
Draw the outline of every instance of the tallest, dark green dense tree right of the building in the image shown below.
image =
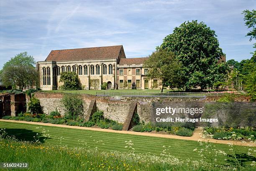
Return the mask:
[(182, 84), (186, 89), (212, 87), (227, 77), (228, 65), (217, 64), (223, 52), (215, 31), (203, 22), (182, 23), (164, 38), (161, 48), (172, 51), (182, 62)]

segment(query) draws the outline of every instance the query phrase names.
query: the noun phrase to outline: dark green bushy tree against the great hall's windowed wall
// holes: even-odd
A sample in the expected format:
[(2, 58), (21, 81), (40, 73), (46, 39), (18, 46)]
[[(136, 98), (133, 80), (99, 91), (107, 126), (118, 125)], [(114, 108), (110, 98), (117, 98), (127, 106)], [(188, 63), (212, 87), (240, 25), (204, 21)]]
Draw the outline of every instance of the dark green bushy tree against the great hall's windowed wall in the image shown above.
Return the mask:
[(62, 89), (78, 90), (81, 89), (80, 81), (76, 72), (61, 72), (59, 82), (63, 82)]

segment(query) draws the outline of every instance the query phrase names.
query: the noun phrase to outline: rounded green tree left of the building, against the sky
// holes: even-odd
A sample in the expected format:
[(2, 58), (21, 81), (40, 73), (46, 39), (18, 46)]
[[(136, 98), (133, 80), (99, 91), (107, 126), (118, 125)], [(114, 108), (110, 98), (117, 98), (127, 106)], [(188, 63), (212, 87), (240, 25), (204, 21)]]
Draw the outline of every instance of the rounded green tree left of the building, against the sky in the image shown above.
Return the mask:
[(20, 53), (6, 62), (1, 70), (1, 82), (5, 87), (12, 86), (23, 89), (28, 84), (38, 83), (38, 72), (33, 56), (28, 56), (27, 52)]

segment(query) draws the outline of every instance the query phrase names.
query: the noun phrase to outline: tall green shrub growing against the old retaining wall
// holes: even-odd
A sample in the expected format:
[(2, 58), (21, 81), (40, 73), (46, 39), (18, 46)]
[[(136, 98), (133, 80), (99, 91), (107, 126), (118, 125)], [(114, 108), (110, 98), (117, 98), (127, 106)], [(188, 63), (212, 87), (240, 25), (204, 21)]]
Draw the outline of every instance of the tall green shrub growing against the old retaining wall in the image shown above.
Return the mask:
[(80, 94), (65, 94), (61, 99), (67, 119), (76, 119), (84, 114), (84, 101)]

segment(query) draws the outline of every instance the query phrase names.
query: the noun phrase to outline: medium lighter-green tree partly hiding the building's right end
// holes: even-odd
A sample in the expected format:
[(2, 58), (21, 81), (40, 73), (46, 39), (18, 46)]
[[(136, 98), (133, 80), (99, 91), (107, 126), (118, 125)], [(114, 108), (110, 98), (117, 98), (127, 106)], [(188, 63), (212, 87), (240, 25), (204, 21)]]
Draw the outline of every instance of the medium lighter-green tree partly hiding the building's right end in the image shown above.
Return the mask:
[(181, 62), (174, 57), (172, 52), (161, 48), (153, 52), (143, 65), (144, 68), (148, 68), (149, 79), (160, 80), (161, 92), (164, 86), (180, 87), (181, 66)]

